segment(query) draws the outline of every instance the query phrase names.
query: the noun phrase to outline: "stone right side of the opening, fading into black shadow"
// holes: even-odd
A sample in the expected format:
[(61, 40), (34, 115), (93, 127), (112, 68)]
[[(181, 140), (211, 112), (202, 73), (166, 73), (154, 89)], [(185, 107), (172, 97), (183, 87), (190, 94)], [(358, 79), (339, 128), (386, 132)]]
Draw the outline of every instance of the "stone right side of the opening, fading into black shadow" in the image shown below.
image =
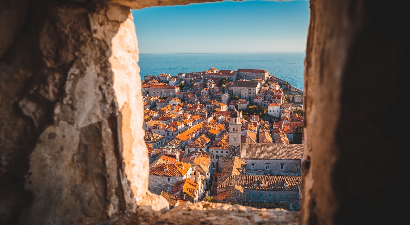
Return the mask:
[[(389, 189), (396, 193), (383, 199), (380, 193), (402, 176), (382, 166), (404, 156), (407, 138), (388, 134), (402, 129), (397, 123), (378, 121), (408, 96), (402, 82), (410, 60), (405, 9), (366, 0), (311, 0), (310, 11), (301, 224), (394, 223), (401, 209), (387, 206), (398, 204), (400, 191)], [(394, 85), (376, 98), (374, 86), (381, 81)], [(391, 165), (390, 172), (407, 169)]]

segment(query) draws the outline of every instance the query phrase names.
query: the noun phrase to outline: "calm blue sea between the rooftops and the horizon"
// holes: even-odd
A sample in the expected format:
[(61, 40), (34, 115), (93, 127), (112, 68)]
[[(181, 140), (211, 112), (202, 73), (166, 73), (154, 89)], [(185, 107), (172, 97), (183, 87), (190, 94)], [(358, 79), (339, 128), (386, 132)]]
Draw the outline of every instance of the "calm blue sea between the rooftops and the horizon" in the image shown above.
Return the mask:
[(305, 53), (207, 53), (139, 55), (141, 80), (144, 76), (216, 70), (262, 69), (303, 90)]

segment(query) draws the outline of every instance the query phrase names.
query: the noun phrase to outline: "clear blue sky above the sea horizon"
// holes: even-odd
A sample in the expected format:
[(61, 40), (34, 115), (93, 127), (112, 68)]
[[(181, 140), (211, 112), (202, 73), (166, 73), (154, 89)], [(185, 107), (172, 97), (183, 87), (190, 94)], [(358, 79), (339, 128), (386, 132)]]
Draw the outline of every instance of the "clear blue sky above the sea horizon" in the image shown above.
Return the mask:
[(223, 1), (132, 10), (140, 54), (305, 52), (309, 1)]

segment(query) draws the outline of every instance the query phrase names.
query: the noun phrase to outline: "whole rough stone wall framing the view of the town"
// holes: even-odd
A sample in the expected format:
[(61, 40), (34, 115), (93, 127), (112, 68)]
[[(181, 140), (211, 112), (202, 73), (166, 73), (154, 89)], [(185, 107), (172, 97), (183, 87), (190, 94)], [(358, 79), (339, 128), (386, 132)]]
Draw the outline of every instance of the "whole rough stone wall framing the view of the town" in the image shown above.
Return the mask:
[[(375, 123), (385, 112), (367, 106), (392, 108), (408, 95), (408, 13), (369, 0), (310, 0), (300, 220), (204, 202), (165, 213), (166, 200), (148, 191), (130, 8), (194, 2), (203, 1), (0, 2), (0, 223), (387, 224), (407, 215), (396, 207), (403, 188), (392, 188), (403, 173), (369, 169), (405, 158), (407, 133), (386, 138), (403, 124)], [(396, 96), (373, 98), (386, 75)]]

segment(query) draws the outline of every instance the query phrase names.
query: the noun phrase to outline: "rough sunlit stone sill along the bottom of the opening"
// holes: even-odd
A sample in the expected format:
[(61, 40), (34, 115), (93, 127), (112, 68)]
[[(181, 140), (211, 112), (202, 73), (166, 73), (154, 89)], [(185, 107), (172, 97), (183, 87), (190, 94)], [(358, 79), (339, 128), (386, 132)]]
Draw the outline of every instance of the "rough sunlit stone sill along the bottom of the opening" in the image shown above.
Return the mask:
[(137, 214), (118, 214), (95, 225), (298, 225), (299, 213), (284, 209), (256, 209), (241, 205), (185, 202), (165, 214), (141, 207)]

